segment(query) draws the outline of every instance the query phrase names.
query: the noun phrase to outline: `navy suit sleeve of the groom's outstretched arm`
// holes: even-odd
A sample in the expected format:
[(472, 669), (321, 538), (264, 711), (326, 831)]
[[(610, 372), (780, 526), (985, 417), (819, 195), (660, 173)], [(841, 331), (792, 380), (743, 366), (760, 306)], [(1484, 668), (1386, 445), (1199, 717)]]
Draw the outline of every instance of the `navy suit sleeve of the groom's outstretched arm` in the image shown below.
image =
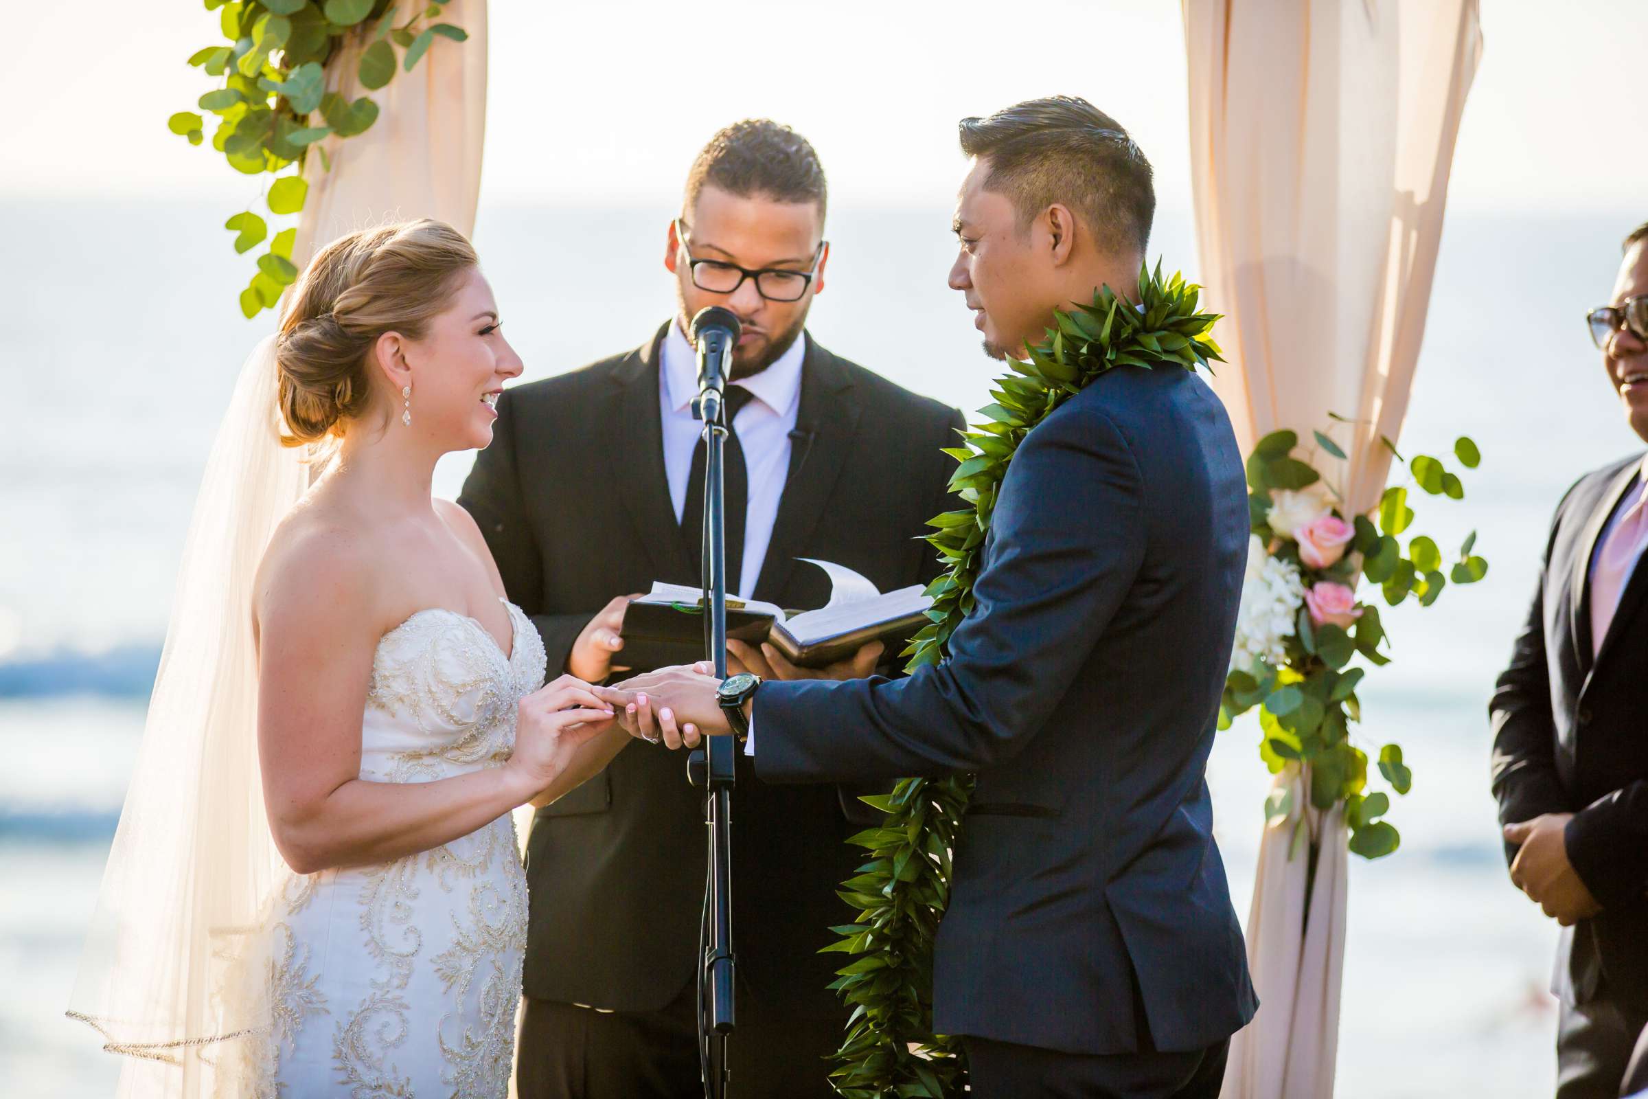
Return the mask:
[(755, 695), (766, 781), (976, 771), (1012, 758), (1063, 699), (1144, 562), (1144, 491), (1096, 409), (1055, 415), (1012, 460), (995, 544), (951, 659), (900, 680), (770, 682)]

